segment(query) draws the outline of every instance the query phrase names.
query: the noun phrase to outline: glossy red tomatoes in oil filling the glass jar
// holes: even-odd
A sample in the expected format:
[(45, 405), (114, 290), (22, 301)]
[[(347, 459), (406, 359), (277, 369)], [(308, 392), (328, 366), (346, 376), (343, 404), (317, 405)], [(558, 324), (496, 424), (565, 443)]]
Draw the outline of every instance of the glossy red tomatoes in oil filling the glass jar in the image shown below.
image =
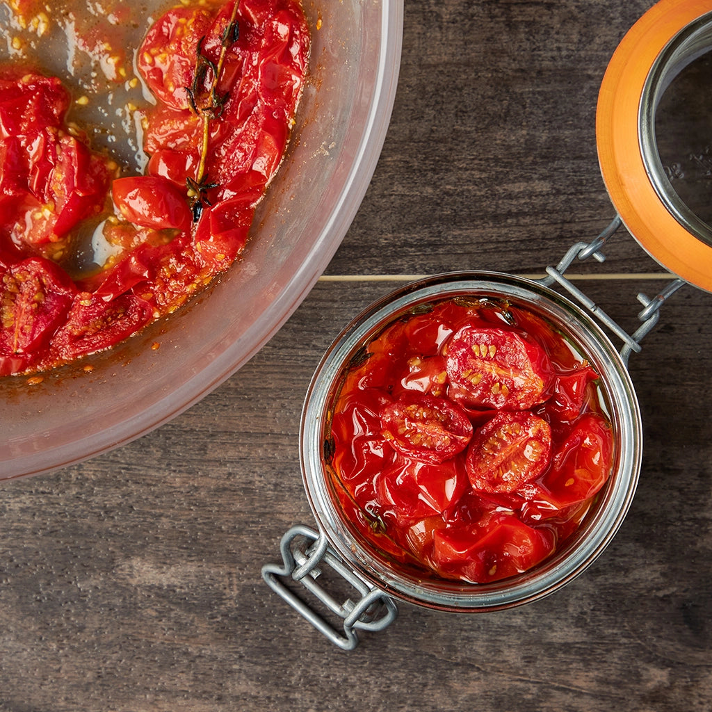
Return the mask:
[(486, 583), (529, 570), (609, 478), (597, 379), (529, 310), (421, 305), (342, 374), (324, 447), (334, 496), (361, 540), (419, 576)]

